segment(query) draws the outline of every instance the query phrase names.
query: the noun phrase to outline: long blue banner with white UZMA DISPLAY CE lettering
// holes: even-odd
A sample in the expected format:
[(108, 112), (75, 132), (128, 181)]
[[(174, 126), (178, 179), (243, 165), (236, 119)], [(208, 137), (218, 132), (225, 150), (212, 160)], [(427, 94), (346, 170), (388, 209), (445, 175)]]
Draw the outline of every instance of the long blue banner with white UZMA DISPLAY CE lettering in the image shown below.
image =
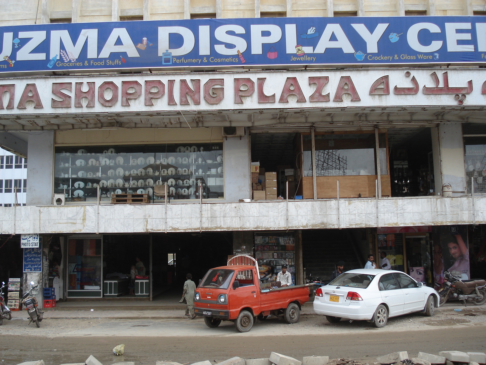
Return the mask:
[(0, 73), (486, 62), (481, 16), (148, 20), (0, 30)]

